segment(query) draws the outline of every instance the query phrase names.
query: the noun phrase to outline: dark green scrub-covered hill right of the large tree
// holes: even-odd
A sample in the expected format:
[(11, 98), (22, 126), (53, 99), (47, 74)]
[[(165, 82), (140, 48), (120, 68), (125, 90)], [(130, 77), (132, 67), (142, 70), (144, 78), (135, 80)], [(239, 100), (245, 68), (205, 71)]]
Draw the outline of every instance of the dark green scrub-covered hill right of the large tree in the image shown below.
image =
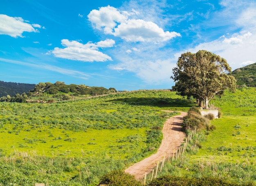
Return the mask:
[(233, 75), (239, 86), (256, 87), (256, 63), (238, 68), (230, 73)]

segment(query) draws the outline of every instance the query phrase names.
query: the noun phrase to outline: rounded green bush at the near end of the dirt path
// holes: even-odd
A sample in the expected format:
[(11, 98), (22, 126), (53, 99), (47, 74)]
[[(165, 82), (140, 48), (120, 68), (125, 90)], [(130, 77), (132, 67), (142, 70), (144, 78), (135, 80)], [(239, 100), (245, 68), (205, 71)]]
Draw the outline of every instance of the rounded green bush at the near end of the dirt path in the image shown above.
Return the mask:
[(134, 176), (121, 170), (111, 171), (101, 177), (100, 184), (108, 186), (141, 186)]

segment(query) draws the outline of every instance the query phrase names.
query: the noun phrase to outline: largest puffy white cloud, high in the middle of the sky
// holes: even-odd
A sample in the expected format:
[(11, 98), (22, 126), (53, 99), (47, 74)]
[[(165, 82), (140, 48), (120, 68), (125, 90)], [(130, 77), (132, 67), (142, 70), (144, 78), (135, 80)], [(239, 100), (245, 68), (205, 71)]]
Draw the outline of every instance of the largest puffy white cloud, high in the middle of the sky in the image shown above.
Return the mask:
[(180, 33), (164, 31), (157, 24), (141, 19), (129, 19), (130, 15), (138, 15), (139, 12), (119, 11), (115, 7), (101, 7), (92, 10), (88, 19), (94, 28), (103, 30), (129, 42), (164, 42), (173, 37), (181, 36)]

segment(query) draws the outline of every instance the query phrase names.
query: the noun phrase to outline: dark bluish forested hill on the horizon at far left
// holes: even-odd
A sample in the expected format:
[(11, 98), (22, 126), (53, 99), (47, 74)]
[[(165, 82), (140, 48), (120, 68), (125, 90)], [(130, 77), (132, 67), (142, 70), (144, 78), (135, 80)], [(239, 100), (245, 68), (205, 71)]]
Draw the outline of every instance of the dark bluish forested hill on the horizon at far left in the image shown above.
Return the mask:
[(0, 81), (0, 97), (2, 96), (15, 96), (16, 94), (22, 94), (29, 92), (35, 88), (36, 84), (29, 83), (13, 83)]

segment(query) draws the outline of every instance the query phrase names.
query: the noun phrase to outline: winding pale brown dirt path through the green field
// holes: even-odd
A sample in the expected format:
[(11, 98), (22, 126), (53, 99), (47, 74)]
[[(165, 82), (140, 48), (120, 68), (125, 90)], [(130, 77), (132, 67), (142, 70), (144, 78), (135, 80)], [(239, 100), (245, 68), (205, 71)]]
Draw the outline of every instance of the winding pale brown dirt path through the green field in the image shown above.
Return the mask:
[[(166, 112), (173, 112), (164, 110)], [(179, 111), (180, 112), (180, 111)], [(153, 171), (153, 168), (157, 166), (157, 162), (161, 162), (164, 158), (164, 153), (168, 157), (173, 154), (173, 149), (179, 149), (182, 142), (184, 142), (185, 134), (182, 132), (183, 117), (186, 116), (186, 112), (180, 112), (178, 116), (173, 116), (166, 120), (163, 127), (163, 140), (157, 150), (157, 153), (151, 155), (148, 158), (130, 166), (125, 170), (126, 173), (134, 175), (136, 179), (141, 179), (145, 176), (145, 173), (149, 174)]]

